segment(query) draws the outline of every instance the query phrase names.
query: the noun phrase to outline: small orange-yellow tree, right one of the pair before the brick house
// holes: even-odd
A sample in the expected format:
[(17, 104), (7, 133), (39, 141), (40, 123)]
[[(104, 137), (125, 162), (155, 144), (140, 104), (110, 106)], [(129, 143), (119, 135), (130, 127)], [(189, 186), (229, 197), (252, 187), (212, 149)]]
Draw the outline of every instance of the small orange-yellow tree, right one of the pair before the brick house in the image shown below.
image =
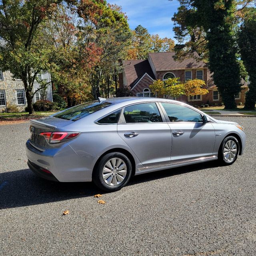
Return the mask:
[(186, 96), (195, 96), (195, 95), (205, 95), (209, 91), (207, 89), (202, 88), (205, 86), (204, 80), (201, 79), (192, 79), (186, 80), (184, 84), (184, 90)]

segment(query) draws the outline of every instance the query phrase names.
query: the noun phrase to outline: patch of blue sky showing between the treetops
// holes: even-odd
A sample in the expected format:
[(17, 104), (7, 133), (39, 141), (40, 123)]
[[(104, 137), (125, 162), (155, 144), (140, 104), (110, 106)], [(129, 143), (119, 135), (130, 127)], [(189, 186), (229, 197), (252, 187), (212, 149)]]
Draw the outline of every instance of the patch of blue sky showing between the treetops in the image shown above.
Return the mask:
[(142, 25), (150, 34), (159, 34), (160, 37), (174, 39), (171, 20), (177, 12), (177, 0), (107, 0), (110, 4), (122, 6), (128, 16), (130, 28)]

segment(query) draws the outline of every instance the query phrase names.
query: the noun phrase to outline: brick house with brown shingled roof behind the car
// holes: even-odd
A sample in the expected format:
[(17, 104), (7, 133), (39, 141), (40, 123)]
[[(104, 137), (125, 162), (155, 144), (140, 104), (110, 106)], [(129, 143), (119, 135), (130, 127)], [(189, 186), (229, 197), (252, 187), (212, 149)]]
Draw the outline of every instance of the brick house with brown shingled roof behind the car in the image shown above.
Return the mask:
[[(149, 53), (147, 60), (124, 60), (123, 72), (119, 74), (119, 84), (129, 86), (133, 96), (155, 97), (150, 92), (149, 86), (154, 80), (166, 80), (178, 77), (184, 82), (188, 79), (202, 79), (205, 81), (205, 88), (209, 90), (206, 95), (184, 96), (177, 100), (192, 105), (221, 104), (222, 99), (214, 85), (208, 66), (203, 61), (196, 61), (195, 58), (188, 58), (182, 62), (175, 61), (174, 52)], [(199, 57), (195, 53), (196, 57)], [(245, 93), (248, 91), (248, 84), (242, 80), (241, 92), (235, 95), (236, 103), (244, 103)]]

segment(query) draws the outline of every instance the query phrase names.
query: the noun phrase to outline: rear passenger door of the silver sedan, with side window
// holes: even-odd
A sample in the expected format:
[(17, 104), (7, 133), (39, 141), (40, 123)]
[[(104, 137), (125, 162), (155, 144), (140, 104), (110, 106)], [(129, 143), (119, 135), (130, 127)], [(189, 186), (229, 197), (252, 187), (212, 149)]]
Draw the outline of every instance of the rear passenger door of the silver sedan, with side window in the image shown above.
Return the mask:
[(170, 163), (170, 127), (162, 122), (156, 103), (127, 106), (121, 117), (123, 121), (118, 122), (118, 134), (145, 167)]

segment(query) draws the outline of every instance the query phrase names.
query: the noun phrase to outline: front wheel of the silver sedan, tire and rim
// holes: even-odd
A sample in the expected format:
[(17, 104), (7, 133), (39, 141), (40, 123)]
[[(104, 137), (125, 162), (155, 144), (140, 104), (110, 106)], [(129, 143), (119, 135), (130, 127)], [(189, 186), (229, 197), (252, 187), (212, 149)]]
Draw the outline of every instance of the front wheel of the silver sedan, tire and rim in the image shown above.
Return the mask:
[(230, 165), (236, 161), (239, 154), (239, 142), (234, 136), (224, 138), (218, 152), (218, 161), (222, 165)]

